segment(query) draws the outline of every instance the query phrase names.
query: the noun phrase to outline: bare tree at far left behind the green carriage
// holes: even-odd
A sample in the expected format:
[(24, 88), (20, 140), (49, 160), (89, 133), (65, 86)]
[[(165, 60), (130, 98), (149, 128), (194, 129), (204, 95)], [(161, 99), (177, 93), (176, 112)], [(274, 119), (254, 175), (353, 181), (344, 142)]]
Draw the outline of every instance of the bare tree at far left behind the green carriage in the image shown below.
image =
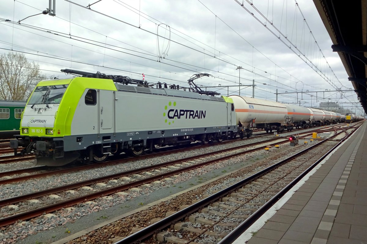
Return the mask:
[(8, 53), (0, 56), (0, 99), (27, 100), (34, 86), (46, 79), (39, 65), (29, 62), (25, 55)]

